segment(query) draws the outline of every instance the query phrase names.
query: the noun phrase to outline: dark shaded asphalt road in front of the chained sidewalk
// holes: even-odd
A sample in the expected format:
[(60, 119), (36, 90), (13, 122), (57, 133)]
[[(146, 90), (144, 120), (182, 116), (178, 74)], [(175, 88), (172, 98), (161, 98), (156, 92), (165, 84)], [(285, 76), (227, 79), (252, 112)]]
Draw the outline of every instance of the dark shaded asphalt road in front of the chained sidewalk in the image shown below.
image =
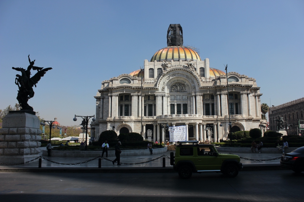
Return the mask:
[(304, 173), (0, 173), (0, 200), (14, 201), (303, 201)]

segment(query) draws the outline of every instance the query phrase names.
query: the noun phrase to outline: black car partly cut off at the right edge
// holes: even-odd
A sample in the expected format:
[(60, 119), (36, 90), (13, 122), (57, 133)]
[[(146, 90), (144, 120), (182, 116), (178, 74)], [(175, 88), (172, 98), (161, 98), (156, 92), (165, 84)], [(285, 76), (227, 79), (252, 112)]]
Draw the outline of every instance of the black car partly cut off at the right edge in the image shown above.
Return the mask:
[(282, 155), (281, 166), (289, 168), (296, 173), (304, 171), (304, 146)]

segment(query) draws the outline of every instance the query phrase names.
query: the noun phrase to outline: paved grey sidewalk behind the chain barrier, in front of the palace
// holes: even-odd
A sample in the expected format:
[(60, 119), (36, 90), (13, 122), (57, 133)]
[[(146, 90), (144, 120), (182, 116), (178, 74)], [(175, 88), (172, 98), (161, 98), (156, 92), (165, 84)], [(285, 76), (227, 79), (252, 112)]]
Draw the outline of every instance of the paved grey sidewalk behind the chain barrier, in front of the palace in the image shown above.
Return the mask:
[[(39, 163), (26, 163), (23, 165), (2, 165), (0, 164), (0, 172), (173, 172), (170, 165), (170, 152), (163, 154), (153, 154), (145, 156), (124, 156), (120, 157), (122, 165), (112, 164), (115, 157), (109, 157), (109, 160), (101, 160), (101, 168), (98, 168), (98, 158), (67, 158), (67, 157), (44, 157), (42, 159), (41, 168)], [(173, 151), (175, 152), (175, 151)], [(227, 153), (227, 152), (222, 152)], [(42, 156), (42, 153), (40, 153)], [(280, 167), (280, 159), (270, 160), (281, 157), (280, 153), (233, 153), (241, 157), (243, 170), (278, 170)], [(163, 167), (163, 155), (165, 155), (165, 167)], [(157, 159), (158, 158), (158, 159)], [(250, 160), (253, 159), (253, 160)], [(57, 162), (52, 163), (50, 161)], [(89, 161), (91, 160), (91, 161)], [(151, 161), (153, 160), (153, 161)], [(267, 161), (256, 161), (267, 160)], [(87, 162), (89, 161), (89, 162)], [(59, 163), (59, 164), (58, 164)], [(76, 164), (76, 165), (62, 165)], [(132, 164), (131, 164), (132, 163)], [(131, 165), (130, 165), (131, 164)]]

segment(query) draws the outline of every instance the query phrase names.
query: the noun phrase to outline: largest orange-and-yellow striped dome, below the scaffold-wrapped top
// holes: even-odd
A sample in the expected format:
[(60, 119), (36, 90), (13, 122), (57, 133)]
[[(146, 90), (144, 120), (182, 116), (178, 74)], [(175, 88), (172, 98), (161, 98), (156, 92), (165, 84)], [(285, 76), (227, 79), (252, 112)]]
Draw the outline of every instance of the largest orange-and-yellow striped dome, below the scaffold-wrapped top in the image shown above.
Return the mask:
[(155, 60), (157, 62), (163, 61), (163, 60), (184, 60), (188, 61), (189, 59), (192, 60), (201, 60), (199, 57), (199, 54), (195, 52), (194, 50), (180, 45), (174, 45), (174, 46), (168, 46), (166, 48), (160, 49), (157, 51), (154, 56), (151, 58), (150, 62), (154, 62)]

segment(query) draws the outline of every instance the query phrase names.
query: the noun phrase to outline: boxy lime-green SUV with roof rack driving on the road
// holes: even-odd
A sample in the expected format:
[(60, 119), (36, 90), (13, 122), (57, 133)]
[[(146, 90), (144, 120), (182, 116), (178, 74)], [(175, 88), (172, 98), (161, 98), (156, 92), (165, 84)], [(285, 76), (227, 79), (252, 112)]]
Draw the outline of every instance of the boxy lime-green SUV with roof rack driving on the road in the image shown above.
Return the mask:
[(170, 165), (181, 178), (189, 178), (192, 173), (221, 172), (228, 177), (236, 177), (242, 169), (240, 157), (218, 153), (210, 144), (198, 141), (180, 141), (174, 153), (170, 153)]

